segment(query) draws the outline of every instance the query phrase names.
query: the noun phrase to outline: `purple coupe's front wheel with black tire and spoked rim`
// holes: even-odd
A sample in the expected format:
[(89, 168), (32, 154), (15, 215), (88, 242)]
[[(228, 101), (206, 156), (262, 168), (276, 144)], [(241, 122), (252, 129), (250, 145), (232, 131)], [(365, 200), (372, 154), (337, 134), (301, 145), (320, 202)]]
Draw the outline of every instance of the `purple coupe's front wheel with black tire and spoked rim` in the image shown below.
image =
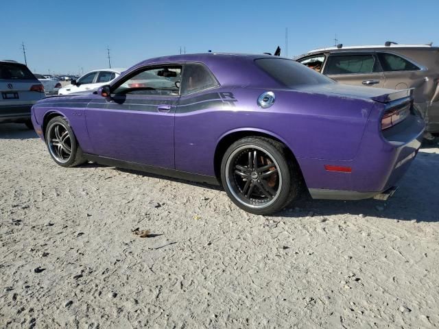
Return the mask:
[(66, 119), (54, 117), (47, 123), (45, 140), (49, 154), (62, 167), (75, 167), (86, 162), (82, 149)]

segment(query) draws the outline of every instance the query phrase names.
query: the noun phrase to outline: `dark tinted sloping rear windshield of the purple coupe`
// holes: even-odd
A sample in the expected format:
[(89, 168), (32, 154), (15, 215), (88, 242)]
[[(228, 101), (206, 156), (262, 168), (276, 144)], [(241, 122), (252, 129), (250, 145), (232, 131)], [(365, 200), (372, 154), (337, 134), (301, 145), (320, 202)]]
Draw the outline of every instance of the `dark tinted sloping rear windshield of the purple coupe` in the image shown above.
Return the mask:
[(263, 71), (274, 77), (275, 80), (289, 88), (312, 84), (334, 83), (329, 77), (325, 77), (294, 60), (283, 58), (261, 58), (254, 62), (257, 66), (263, 69)]

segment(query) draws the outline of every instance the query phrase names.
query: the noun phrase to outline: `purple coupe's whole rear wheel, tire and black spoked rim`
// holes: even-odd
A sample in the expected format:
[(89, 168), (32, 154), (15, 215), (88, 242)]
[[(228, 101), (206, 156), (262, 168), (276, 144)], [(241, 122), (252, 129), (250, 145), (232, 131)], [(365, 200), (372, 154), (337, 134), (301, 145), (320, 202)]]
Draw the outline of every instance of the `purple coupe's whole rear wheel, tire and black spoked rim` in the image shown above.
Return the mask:
[(230, 145), (221, 163), (222, 185), (228, 197), (256, 215), (273, 214), (289, 205), (300, 191), (299, 173), (285, 145), (259, 136)]

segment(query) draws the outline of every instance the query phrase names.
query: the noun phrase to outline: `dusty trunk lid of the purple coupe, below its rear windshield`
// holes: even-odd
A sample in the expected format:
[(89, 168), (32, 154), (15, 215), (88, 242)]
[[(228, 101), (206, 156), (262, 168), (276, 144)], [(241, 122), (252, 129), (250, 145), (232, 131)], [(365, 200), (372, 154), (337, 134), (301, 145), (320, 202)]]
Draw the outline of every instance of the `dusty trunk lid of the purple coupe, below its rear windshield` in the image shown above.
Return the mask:
[(327, 95), (338, 95), (340, 97), (370, 99), (381, 103), (388, 103), (395, 99), (410, 97), (412, 89), (393, 90), (362, 86), (349, 86), (346, 84), (318, 84), (313, 86), (303, 86), (298, 90), (305, 93), (318, 93)]

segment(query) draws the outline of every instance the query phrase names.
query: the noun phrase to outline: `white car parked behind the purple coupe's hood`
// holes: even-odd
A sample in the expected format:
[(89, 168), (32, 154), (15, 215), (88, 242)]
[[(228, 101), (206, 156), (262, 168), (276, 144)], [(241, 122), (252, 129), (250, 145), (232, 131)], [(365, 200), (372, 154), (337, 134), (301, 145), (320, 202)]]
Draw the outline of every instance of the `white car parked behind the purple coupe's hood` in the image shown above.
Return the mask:
[(100, 86), (104, 86), (104, 84), (115, 80), (121, 75), (121, 72), (125, 70), (126, 69), (100, 69), (90, 71), (82, 75), (78, 80), (71, 80), (71, 84), (61, 88), (58, 91), (58, 95), (97, 90)]

